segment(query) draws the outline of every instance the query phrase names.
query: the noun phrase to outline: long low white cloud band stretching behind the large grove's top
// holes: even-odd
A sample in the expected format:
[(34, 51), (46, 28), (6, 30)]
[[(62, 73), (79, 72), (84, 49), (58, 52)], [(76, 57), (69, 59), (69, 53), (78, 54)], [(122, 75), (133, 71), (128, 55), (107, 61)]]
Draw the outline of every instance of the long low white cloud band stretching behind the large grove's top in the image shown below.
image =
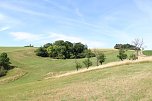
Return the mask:
[(100, 48), (100, 47), (105, 46), (105, 44), (100, 41), (86, 40), (80, 37), (69, 36), (69, 35), (58, 34), (58, 33), (35, 35), (32, 33), (27, 33), (27, 32), (11, 32), (10, 35), (13, 36), (14, 39), (17, 41), (32, 42), (36, 46), (40, 46), (49, 42), (54, 42), (56, 40), (70, 41), (73, 43), (81, 42), (83, 44), (88, 45), (89, 48)]

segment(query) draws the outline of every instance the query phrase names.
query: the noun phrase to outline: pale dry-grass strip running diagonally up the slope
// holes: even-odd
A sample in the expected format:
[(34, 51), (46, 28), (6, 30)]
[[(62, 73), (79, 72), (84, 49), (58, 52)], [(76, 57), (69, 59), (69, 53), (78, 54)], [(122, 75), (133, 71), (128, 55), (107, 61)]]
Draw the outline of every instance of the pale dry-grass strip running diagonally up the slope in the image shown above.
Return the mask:
[(107, 67), (113, 67), (113, 66), (119, 66), (119, 65), (125, 65), (125, 64), (133, 64), (133, 63), (140, 63), (140, 62), (146, 62), (146, 61), (152, 61), (152, 56), (149, 56), (149, 57), (141, 56), (141, 57), (139, 57), (138, 60), (124, 60), (124, 61), (118, 61), (118, 62), (110, 62), (110, 63), (100, 65), (100, 66), (89, 67), (88, 69), (83, 68), (83, 69), (80, 69), (79, 71), (76, 71), (76, 70), (75, 71), (69, 71), (69, 72), (64, 73), (64, 74), (59, 74), (59, 75), (56, 75), (56, 76), (46, 77), (45, 79), (60, 78), (60, 77), (64, 77), (64, 76), (74, 75), (74, 74), (78, 74), (78, 73), (83, 73), (83, 72), (102, 69), (102, 68), (107, 68)]

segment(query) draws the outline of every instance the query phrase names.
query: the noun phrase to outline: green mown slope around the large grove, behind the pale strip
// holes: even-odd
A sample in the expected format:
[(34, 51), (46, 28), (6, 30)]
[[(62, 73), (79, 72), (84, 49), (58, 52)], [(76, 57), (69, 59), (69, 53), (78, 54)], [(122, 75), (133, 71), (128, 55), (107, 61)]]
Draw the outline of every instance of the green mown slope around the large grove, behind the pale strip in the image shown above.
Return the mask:
[[(49, 72), (53, 73), (64, 73), (71, 70), (76, 70), (75, 60), (57, 60), (51, 58), (42, 58), (35, 55), (34, 51), (36, 48), (28, 47), (1, 47), (0, 52), (7, 52), (11, 59), (12, 65), (22, 69), (26, 75), (21, 79), (16, 80), (14, 83), (28, 83), (32, 81), (42, 80), (45, 75)], [(118, 51), (114, 49), (102, 49), (106, 55), (106, 61), (113, 62), (119, 61), (117, 58)], [(128, 54), (131, 52), (128, 51)], [(84, 59), (78, 59), (78, 61), (85, 67), (82, 61)], [(93, 66), (96, 65), (96, 59), (92, 58)], [(4, 77), (5, 78), (5, 77)]]

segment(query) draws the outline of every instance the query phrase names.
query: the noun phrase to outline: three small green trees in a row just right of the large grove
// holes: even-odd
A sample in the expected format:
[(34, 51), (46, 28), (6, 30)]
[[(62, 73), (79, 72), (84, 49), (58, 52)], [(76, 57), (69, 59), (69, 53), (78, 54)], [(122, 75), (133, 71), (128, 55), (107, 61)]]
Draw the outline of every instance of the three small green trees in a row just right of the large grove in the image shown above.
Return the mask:
[[(96, 57), (96, 65), (98, 66), (99, 63), (102, 65), (103, 62), (105, 62), (106, 56), (104, 55), (103, 52), (101, 52), (100, 50), (94, 49), (93, 53), (95, 54)], [(87, 67), (87, 69), (92, 66), (92, 61), (91, 61), (91, 50), (87, 50), (86, 52), (86, 59), (83, 61), (83, 64)], [(79, 68), (82, 67), (81, 63), (79, 63), (77, 60), (75, 60), (75, 64), (76, 64), (76, 69), (78, 71)]]

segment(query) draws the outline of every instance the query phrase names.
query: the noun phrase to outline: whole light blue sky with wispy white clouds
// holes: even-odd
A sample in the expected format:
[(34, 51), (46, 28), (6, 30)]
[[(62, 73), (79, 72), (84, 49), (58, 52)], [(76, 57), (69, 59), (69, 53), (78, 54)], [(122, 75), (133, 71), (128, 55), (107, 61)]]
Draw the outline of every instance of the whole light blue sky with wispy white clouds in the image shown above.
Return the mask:
[(152, 0), (0, 0), (0, 46), (113, 48), (135, 38), (152, 49)]

